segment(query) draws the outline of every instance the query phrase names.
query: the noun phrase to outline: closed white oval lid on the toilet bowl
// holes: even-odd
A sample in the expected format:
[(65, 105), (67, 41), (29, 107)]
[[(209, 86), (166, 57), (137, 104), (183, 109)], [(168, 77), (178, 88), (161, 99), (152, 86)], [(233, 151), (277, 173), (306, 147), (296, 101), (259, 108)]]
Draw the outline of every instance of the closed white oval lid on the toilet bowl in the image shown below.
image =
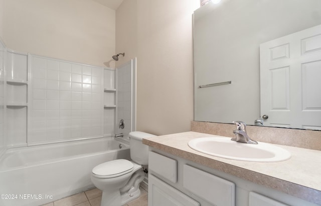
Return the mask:
[(92, 173), (96, 177), (110, 178), (131, 172), (133, 168), (134, 165), (130, 161), (117, 159), (97, 165), (92, 169)]

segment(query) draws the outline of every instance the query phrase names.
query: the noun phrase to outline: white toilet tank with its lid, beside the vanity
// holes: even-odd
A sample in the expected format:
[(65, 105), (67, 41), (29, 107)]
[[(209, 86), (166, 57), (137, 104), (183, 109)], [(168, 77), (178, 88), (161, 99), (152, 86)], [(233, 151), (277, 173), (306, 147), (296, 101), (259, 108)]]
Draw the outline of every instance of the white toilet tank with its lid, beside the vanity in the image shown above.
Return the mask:
[(148, 165), (148, 146), (142, 144), (143, 138), (155, 137), (155, 135), (144, 132), (130, 132), (130, 158), (140, 164)]

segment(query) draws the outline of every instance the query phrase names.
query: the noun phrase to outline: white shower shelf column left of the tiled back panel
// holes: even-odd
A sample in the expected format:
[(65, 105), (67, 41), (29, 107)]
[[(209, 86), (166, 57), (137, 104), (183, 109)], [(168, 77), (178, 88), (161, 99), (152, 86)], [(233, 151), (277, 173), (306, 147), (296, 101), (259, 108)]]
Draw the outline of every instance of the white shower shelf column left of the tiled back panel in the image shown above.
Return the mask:
[(6, 123), (7, 146), (27, 144), (29, 57), (27, 53), (8, 50), (6, 53)]

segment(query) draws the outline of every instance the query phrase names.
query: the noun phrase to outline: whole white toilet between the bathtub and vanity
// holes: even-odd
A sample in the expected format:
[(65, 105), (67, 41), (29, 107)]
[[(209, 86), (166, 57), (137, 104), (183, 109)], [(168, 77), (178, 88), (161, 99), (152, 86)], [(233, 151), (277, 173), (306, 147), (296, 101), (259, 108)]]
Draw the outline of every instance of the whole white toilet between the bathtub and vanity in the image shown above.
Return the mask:
[(91, 181), (102, 190), (101, 206), (120, 206), (140, 195), (139, 184), (145, 173), (141, 165), (148, 164), (148, 146), (142, 138), (155, 135), (130, 132), (130, 158), (104, 162), (92, 169)]

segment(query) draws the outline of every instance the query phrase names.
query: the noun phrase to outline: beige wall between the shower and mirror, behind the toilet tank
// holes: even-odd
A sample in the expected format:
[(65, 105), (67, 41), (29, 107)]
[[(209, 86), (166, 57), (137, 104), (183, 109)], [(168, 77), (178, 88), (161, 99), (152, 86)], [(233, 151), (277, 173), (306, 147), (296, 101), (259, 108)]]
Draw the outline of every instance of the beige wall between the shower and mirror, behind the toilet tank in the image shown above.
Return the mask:
[(137, 57), (137, 130), (190, 131), (192, 14), (198, 0), (124, 0), (116, 11), (117, 65)]

